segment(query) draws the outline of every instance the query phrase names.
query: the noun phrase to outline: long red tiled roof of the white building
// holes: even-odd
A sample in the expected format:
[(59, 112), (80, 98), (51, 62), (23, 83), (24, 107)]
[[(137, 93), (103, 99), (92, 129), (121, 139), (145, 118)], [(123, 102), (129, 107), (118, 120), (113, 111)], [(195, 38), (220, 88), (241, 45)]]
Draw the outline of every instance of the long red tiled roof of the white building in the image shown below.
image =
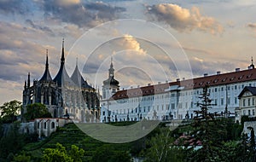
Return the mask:
[(238, 72), (228, 72), (223, 74), (216, 74), (211, 76), (205, 76), (201, 78), (192, 78), (182, 81), (170, 82), (166, 84), (154, 84), (141, 88), (135, 88), (130, 90), (119, 90), (113, 96), (113, 100), (136, 97), (142, 95), (154, 95), (164, 93), (169, 86), (178, 85), (184, 87), (185, 90), (198, 89), (204, 87), (206, 84), (209, 86), (218, 86), (224, 84), (235, 84), (241, 82), (247, 82), (256, 80), (256, 68), (247, 69)]

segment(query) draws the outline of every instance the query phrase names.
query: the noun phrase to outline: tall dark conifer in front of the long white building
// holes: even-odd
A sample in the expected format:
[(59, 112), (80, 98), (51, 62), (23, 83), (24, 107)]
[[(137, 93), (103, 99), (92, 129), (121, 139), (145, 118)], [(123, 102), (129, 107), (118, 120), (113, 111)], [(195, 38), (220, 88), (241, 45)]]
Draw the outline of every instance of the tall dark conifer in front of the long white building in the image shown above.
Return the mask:
[[(201, 143), (202, 148), (192, 151), (189, 157), (190, 161), (219, 161), (221, 159), (219, 150), (222, 148), (221, 142), (226, 131), (222, 128), (223, 125), (215, 119), (215, 114), (208, 112), (208, 109), (212, 106), (209, 95), (208, 86), (205, 86), (203, 93), (199, 96), (201, 103), (197, 103), (197, 105), (201, 107), (201, 110), (195, 111), (196, 116), (192, 123), (194, 130), (190, 137), (194, 146)], [(193, 148), (189, 149), (191, 151)]]

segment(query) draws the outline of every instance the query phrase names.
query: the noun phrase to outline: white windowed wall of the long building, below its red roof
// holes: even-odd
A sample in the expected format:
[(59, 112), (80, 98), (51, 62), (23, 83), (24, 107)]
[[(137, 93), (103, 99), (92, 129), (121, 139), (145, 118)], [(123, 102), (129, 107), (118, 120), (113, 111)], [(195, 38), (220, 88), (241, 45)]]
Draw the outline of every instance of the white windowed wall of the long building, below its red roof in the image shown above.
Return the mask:
[[(234, 116), (235, 108), (239, 107), (237, 96), (241, 90), (245, 86), (255, 85), (256, 81), (247, 81), (236, 84), (210, 86), (208, 89), (210, 93), (209, 97), (212, 99), (212, 104), (216, 105), (212, 106), (209, 112), (224, 115), (227, 103), (230, 115)], [(201, 102), (199, 96), (202, 93), (202, 88), (194, 90), (180, 89), (180, 87), (172, 86), (162, 94), (131, 97), (117, 101), (102, 101), (101, 121), (103, 121), (104, 117), (107, 118), (108, 111), (111, 113), (110, 121), (115, 121), (115, 116), (118, 121), (127, 120), (128, 112), (130, 120), (140, 120), (141, 116), (142, 119), (154, 119), (154, 111), (156, 112), (157, 119), (160, 120), (165, 119), (164, 116), (169, 116), (171, 113), (173, 119), (185, 119), (187, 113), (189, 114), (189, 119), (191, 119), (195, 116), (194, 111), (200, 109), (200, 107), (196, 106), (196, 103)], [(177, 90), (180, 90), (179, 93), (177, 93)], [(105, 116), (103, 112), (105, 112)]]

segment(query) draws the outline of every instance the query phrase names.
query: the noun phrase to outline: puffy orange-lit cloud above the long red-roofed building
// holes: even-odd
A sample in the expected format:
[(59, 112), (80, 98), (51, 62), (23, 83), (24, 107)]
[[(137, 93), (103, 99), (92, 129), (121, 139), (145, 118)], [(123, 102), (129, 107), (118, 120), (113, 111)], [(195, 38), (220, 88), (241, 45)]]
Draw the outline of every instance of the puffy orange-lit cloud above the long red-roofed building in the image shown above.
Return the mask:
[(166, 22), (172, 28), (179, 32), (199, 30), (210, 32), (212, 34), (224, 31), (217, 20), (212, 17), (202, 16), (200, 10), (196, 7), (192, 9), (183, 9), (177, 4), (160, 3), (153, 6), (147, 6), (149, 14), (153, 14), (153, 19)]

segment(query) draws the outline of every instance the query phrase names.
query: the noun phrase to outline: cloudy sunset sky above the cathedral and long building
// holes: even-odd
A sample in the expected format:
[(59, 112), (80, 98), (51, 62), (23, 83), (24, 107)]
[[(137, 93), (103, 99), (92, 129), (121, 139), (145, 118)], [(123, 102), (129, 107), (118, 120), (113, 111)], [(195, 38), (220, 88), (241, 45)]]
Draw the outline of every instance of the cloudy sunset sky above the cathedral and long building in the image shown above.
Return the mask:
[(27, 73), (78, 65), (102, 89), (113, 60), (121, 89), (247, 69), (256, 61), (256, 1), (0, 0), (0, 105), (21, 101)]

